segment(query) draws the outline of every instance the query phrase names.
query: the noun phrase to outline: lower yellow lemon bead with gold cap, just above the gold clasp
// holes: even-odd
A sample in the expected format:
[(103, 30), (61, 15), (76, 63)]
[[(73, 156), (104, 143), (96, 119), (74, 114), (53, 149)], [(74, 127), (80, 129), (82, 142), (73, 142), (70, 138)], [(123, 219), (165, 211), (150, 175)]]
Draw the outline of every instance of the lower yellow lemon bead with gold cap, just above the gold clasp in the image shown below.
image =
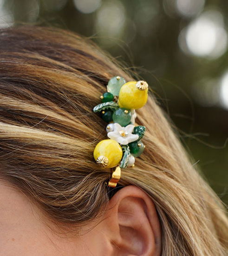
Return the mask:
[(93, 151), (93, 157), (101, 168), (117, 166), (122, 156), (123, 150), (120, 144), (111, 139), (100, 141)]

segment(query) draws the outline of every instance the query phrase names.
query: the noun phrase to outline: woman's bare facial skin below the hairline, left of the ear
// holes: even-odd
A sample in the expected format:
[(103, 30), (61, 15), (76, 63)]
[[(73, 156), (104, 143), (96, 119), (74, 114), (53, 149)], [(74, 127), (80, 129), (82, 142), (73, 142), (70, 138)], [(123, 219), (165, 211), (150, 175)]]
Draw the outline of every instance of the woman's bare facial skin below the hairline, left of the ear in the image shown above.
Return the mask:
[(54, 233), (41, 216), (25, 195), (0, 184), (0, 256), (107, 255), (103, 226), (67, 237)]

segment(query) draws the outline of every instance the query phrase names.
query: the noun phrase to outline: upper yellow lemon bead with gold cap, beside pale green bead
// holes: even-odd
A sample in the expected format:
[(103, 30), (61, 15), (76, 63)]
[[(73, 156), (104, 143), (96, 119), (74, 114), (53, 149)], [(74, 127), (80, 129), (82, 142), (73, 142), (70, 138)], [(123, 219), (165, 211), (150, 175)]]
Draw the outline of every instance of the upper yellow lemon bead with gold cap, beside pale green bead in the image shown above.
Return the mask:
[(147, 101), (148, 84), (145, 81), (130, 81), (125, 83), (119, 92), (120, 108), (142, 108)]

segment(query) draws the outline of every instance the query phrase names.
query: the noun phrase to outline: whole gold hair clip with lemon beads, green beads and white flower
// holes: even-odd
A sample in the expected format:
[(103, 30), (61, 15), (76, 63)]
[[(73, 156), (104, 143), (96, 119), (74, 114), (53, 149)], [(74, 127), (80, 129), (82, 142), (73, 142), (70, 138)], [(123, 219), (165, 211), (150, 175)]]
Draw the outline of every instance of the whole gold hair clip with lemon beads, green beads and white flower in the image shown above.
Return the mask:
[(144, 126), (135, 126), (136, 109), (142, 108), (148, 97), (148, 83), (145, 81), (126, 82), (115, 76), (107, 85), (107, 92), (100, 96), (102, 103), (93, 108), (108, 122), (109, 139), (98, 142), (93, 156), (101, 168), (111, 168), (109, 187), (115, 188), (120, 180), (121, 168), (134, 167), (135, 157), (145, 148), (141, 139)]

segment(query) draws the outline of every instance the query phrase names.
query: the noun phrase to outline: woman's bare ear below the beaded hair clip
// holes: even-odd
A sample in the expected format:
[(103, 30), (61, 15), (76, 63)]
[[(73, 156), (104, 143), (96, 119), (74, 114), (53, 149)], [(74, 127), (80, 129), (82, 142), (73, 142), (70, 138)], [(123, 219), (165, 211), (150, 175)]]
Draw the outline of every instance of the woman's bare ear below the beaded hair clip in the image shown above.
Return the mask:
[(161, 255), (161, 229), (156, 208), (142, 189), (127, 186), (118, 190), (110, 200), (104, 222), (113, 245), (108, 256)]

